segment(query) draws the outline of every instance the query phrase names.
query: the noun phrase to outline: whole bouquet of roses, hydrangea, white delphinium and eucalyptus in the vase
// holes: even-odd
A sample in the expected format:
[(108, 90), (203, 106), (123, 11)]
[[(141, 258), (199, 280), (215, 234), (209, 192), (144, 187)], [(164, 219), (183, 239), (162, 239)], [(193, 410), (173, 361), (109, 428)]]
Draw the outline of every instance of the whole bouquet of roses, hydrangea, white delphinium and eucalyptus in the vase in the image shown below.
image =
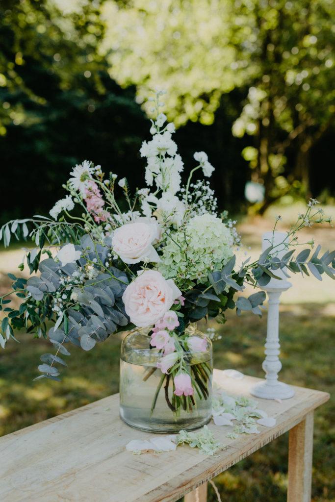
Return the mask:
[[(318, 279), (323, 273), (333, 278), (335, 252), (318, 258), (318, 247), (309, 259), (304, 249), (293, 259), (299, 229), (330, 223), (312, 200), (287, 232), (283, 258), (277, 258), (277, 246), (270, 242), (256, 262), (237, 267), (235, 250), (241, 241), (236, 222), (227, 212), (217, 214), (208, 181), (192, 183), (195, 171), (208, 178), (214, 170), (204, 152), (194, 154), (196, 165), (182, 185), (184, 166), (172, 140), (175, 127), (160, 112), (163, 94), (149, 98), (155, 112), (152, 140), (144, 141), (140, 150), (147, 160), (146, 188), (132, 197), (125, 178), (105, 176), (100, 166), (84, 161), (70, 173), (64, 185), (68, 195), (50, 210), (51, 218), (13, 220), (0, 230), (5, 245), (11, 234), (30, 236), (35, 243), (19, 265), (23, 270), (27, 264), (31, 277), (9, 274), (11, 293), (22, 303), (16, 310), (8, 305), (11, 293), (1, 298), (5, 317), (0, 344), (5, 347), (20, 329), (48, 337), (55, 353), (41, 357), (37, 379), (59, 380), (69, 342), (90, 350), (112, 333), (147, 328), (151, 346), (161, 354), (158, 367), (173, 379), (177, 411), (181, 406), (190, 409), (195, 392), (204, 399), (208, 394), (206, 368), (190, 370), (190, 354), (205, 350), (206, 344), (204, 338), (191, 336), (192, 323), (223, 321), (225, 310), (235, 307), (238, 314), (251, 310), (261, 315), (264, 291), (234, 299), (245, 283), (265, 286), (279, 269), (308, 274), (308, 268)], [(127, 211), (119, 206), (120, 193)]]

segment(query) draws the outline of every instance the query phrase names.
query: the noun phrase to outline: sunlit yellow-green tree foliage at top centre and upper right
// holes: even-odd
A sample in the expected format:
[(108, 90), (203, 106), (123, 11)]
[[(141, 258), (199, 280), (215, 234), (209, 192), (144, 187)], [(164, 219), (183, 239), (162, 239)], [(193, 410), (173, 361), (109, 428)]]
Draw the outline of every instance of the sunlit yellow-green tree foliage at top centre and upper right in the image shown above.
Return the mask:
[(167, 88), (177, 124), (212, 123), (222, 95), (249, 89), (233, 134), (254, 136), (243, 155), (263, 209), (292, 186), (309, 191), (309, 154), (335, 116), (330, 0), (107, 0), (102, 14), (110, 75), (139, 101)]

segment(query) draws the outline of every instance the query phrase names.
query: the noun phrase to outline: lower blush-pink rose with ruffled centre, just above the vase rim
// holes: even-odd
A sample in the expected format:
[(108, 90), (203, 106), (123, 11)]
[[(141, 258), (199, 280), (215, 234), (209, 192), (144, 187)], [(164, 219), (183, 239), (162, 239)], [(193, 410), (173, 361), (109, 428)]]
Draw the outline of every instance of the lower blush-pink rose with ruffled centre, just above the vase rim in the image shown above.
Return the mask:
[(165, 280), (157, 270), (140, 271), (138, 274), (127, 286), (122, 300), (135, 326), (153, 326), (170, 310), (181, 293), (172, 279)]

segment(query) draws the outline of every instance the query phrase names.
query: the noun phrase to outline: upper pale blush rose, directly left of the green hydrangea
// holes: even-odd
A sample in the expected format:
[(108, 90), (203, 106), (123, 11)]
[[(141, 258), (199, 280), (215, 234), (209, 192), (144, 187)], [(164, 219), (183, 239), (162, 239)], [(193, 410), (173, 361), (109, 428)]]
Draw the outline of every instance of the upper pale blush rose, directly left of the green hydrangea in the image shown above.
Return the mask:
[(157, 223), (126, 223), (114, 232), (111, 239), (113, 251), (124, 263), (143, 261), (157, 263), (160, 258), (152, 245), (158, 238)]

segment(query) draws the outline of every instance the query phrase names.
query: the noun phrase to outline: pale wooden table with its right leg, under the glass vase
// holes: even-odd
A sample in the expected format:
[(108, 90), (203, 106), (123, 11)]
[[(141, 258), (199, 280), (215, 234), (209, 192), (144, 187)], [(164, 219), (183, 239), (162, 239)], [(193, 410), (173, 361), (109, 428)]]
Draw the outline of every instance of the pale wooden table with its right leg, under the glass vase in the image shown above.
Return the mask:
[[(214, 379), (227, 393), (246, 396), (260, 380), (249, 376), (234, 380), (219, 370), (214, 370)], [(120, 420), (118, 394), (19, 430), (0, 438), (0, 500), (173, 502), (290, 430), (288, 500), (308, 502), (313, 410), (329, 395), (293, 388), (295, 396), (281, 404), (250, 396), (277, 420), (274, 427), (259, 426), (260, 434), (228, 439), (226, 434), (234, 427), (217, 427), (211, 421), (209, 429), (227, 446), (216, 457), (199, 454), (187, 445), (176, 451), (132, 455), (126, 444), (153, 434)]]

